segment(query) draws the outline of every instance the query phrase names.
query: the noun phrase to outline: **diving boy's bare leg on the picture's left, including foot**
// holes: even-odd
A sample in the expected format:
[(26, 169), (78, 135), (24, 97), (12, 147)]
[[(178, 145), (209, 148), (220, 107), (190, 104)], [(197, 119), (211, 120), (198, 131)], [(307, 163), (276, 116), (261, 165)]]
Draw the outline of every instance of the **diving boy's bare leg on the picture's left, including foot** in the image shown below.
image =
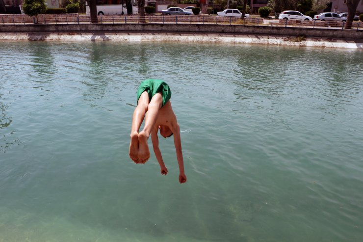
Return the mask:
[(139, 163), (138, 152), (139, 152), (139, 140), (138, 133), (142, 121), (144, 120), (145, 113), (148, 110), (149, 105), (149, 94), (148, 92), (143, 92), (137, 102), (137, 107), (133, 111), (132, 124), (131, 124), (131, 134), (130, 134), (130, 151), (129, 155), (132, 161)]

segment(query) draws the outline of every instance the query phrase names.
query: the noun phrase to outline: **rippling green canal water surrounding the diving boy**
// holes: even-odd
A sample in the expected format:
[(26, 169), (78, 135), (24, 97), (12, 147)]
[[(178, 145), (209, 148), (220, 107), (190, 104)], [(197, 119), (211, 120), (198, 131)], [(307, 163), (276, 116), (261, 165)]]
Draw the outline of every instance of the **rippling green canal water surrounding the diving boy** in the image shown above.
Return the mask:
[[(363, 52), (0, 43), (0, 242), (362, 242)], [(172, 89), (172, 139), (129, 156), (136, 89)], [(151, 145), (151, 140), (149, 140)]]

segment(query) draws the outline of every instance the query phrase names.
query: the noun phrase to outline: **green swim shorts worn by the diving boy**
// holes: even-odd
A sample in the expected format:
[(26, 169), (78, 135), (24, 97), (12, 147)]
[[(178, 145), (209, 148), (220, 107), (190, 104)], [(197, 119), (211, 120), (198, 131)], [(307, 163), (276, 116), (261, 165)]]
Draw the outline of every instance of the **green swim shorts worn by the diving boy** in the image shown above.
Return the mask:
[(145, 81), (142, 81), (139, 89), (137, 90), (137, 102), (139, 101), (139, 98), (144, 91), (148, 92), (149, 101), (151, 101), (152, 97), (156, 93), (161, 92), (162, 106), (164, 106), (171, 97), (171, 90), (169, 88), (169, 85), (162, 80), (146, 79)]

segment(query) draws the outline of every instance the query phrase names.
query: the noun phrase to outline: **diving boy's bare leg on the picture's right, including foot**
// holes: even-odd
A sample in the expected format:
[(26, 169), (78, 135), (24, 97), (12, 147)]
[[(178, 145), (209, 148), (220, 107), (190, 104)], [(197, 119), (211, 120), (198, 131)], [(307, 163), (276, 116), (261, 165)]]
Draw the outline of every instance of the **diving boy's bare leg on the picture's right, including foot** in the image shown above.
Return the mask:
[(148, 113), (145, 118), (144, 129), (138, 135), (139, 153), (138, 158), (140, 163), (145, 163), (150, 158), (150, 151), (148, 146), (148, 138), (154, 125), (156, 123), (157, 114), (162, 107), (162, 95), (156, 93), (148, 105)]

